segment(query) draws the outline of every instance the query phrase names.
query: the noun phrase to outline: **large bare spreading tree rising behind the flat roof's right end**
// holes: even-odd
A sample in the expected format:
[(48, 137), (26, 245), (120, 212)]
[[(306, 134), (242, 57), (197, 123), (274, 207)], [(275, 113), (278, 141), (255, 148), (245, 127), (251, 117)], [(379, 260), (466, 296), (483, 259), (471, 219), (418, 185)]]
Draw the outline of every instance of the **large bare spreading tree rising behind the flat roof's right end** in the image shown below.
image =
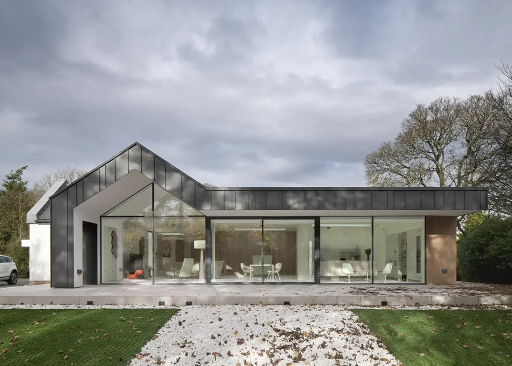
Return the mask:
[[(492, 109), (479, 95), (419, 104), (401, 132), (366, 156), (371, 186), (466, 187), (485, 184), (496, 164)], [(462, 231), (459, 218), (459, 229)]]

